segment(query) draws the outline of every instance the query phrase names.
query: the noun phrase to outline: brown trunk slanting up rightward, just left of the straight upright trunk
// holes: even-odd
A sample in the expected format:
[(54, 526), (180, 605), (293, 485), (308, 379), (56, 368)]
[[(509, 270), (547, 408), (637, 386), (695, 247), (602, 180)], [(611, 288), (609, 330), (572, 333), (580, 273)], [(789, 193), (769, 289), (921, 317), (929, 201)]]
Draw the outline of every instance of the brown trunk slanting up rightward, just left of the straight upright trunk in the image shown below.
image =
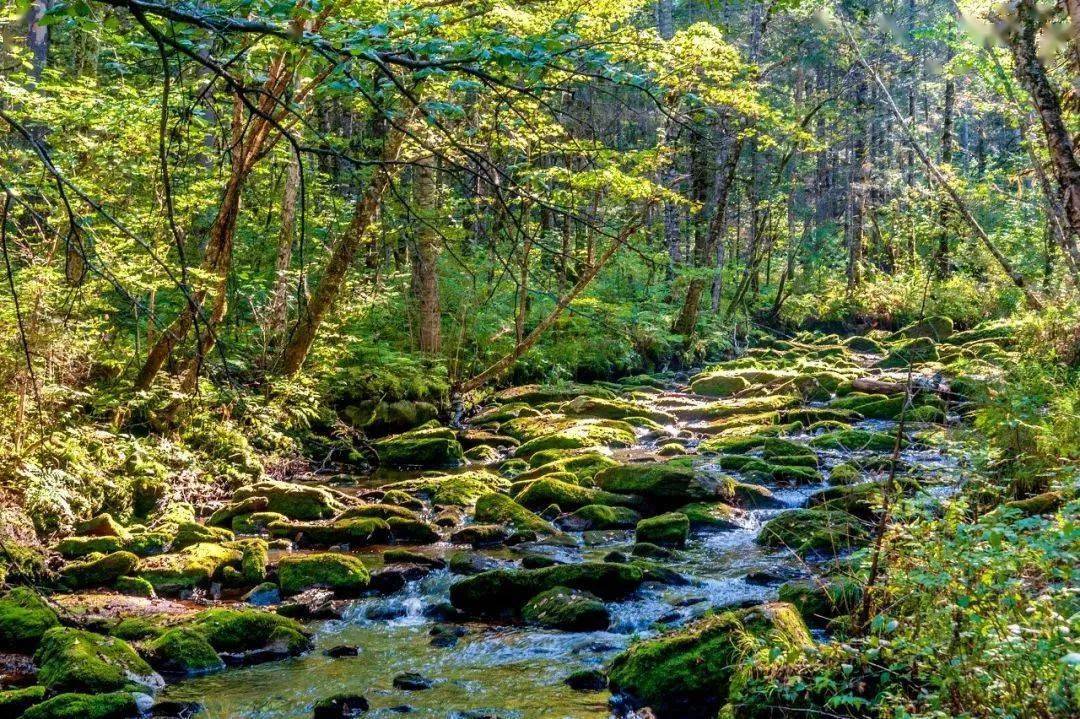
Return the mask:
[(349, 222), (346, 231), (334, 241), (329, 259), (326, 261), (326, 269), (323, 271), (319, 284), (312, 290), (311, 299), (300, 308), (300, 316), (297, 318), (296, 327), (293, 329), (292, 337), (289, 337), (282, 354), (282, 372), (284, 375), (295, 375), (303, 365), (303, 361), (315, 341), (319, 327), (337, 300), (338, 293), (340, 293), (345, 282), (345, 275), (367, 235), (367, 229), (375, 220), (382, 195), (397, 172), (397, 158), (404, 139), (405, 133), (396, 128), (387, 135), (379, 165), (376, 167), (367, 188), (356, 199), (352, 221)]

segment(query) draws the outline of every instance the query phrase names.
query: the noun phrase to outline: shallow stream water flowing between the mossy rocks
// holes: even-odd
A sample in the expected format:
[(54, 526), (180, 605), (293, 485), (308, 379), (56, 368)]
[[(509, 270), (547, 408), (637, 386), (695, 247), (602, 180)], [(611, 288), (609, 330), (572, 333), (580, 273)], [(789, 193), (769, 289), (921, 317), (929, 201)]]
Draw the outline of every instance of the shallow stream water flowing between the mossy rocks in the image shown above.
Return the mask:
[[(863, 422), (856, 426), (895, 431), (891, 422)], [(667, 428), (667, 431), (674, 434), (681, 429)], [(643, 457), (656, 450), (653, 437), (618, 455)], [(837, 451), (821, 452), (822, 469), (849, 457)], [(907, 450), (903, 459), (919, 465), (923, 477), (939, 475), (947, 480), (956, 469), (953, 459), (936, 449)], [(701, 458), (698, 469), (703, 473), (719, 473), (707, 458)], [(363, 484), (372, 486), (383, 480), (376, 477)], [(461, 625), (464, 635), (455, 646), (433, 646), (430, 632), (438, 623), (428, 619), (424, 610), (447, 601), (449, 586), (457, 579), (440, 570), (389, 597), (356, 600), (341, 620), (310, 624), (314, 649), (302, 656), (188, 679), (170, 687), (163, 698), (198, 702), (204, 707), (199, 715), (204, 719), (310, 717), (318, 700), (336, 693), (363, 694), (372, 705), (372, 710), (364, 715), (369, 717), (403, 714), (441, 719), (609, 717), (607, 692), (573, 691), (564, 679), (578, 669), (603, 667), (635, 637), (678, 626), (712, 609), (755, 603), (775, 595), (777, 582), (755, 583), (747, 581), (748, 574), (766, 572), (783, 578), (805, 574), (801, 560), (787, 553), (764, 550), (754, 539), (762, 521), (785, 508), (802, 505), (811, 493), (826, 486), (827, 483), (797, 487), (769, 485), (784, 508), (750, 511), (737, 529), (693, 532), (679, 557), (669, 564), (687, 582), (679, 586), (646, 584), (626, 601), (610, 602), (612, 621), (606, 632), (464, 624)], [(629, 553), (633, 544), (633, 531), (585, 532), (576, 537), (577, 547), (537, 544), (485, 554), (508, 566), (521, 557), (521, 551), (548, 553), (564, 561), (599, 560), (613, 550)], [(423, 551), (449, 554), (455, 548), (459, 547), (446, 544)], [(368, 547), (362, 555), (373, 568), (381, 562), (379, 550)], [(340, 645), (357, 647), (359, 654), (332, 659), (324, 653)], [(417, 671), (433, 679), (434, 684), (419, 691), (394, 689), (393, 677), (405, 671)]]

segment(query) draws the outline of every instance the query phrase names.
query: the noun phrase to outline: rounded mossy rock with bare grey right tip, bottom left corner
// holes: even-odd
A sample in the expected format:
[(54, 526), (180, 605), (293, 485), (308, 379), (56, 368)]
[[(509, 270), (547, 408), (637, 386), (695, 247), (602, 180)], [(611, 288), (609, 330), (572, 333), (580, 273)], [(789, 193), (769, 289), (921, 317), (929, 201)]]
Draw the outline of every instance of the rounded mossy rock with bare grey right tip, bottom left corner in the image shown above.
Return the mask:
[(38, 665), (38, 681), (52, 693), (153, 693), (164, 686), (126, 641), (83, 629), (63, 626), (49, 629), (33, 661)]

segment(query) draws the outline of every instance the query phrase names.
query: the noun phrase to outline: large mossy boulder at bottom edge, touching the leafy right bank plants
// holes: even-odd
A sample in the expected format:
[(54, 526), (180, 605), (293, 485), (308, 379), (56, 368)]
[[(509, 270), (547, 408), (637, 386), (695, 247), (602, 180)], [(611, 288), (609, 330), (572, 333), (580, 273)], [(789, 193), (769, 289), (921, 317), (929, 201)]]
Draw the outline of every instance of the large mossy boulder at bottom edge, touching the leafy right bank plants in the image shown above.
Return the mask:
[(611, 692), (634, 697), (661, 717), (715, 717), (742, 661), (759, 650), (795, 652), (813, 641), (791, 605), (724, 612), (636, 642), (615, 657)]

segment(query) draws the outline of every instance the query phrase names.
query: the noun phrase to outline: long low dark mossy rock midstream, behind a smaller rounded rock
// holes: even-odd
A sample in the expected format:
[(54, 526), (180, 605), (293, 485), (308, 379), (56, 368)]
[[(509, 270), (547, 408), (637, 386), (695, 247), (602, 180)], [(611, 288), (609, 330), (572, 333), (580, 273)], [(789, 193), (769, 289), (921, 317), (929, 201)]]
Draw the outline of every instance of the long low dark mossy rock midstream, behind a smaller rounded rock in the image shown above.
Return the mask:
[(465, 612), (498, 615), (516, 612), (532, 597), (556, 586), (620, 599), (634, 592), (642, 579), (636, 567), (592, 561), (544, 569), (496, 569), (455, 583), (450, 601)]

